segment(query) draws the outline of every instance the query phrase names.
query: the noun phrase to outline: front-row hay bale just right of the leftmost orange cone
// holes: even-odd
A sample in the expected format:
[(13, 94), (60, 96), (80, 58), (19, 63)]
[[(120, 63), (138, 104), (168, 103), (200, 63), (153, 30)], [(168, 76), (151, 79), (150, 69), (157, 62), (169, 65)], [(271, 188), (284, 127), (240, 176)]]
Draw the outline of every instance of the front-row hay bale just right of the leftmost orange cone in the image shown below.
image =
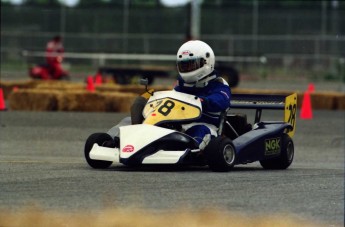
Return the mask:
[(11, 110), (54, 111), (57, 110), (58, 92), (50, 90), (20, 89), (9, 95)]

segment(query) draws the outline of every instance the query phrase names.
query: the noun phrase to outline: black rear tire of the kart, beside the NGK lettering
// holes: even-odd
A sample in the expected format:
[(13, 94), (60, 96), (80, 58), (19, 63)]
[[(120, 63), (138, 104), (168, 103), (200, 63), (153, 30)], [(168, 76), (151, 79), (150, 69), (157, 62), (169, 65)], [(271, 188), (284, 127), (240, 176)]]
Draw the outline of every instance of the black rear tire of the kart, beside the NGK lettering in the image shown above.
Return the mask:
[(264, 169), (287, 169), (294, 157), (294, 144), (288, 134), (283, 134), (281, 152), (278, 157), (261, 160), (260, 164)]

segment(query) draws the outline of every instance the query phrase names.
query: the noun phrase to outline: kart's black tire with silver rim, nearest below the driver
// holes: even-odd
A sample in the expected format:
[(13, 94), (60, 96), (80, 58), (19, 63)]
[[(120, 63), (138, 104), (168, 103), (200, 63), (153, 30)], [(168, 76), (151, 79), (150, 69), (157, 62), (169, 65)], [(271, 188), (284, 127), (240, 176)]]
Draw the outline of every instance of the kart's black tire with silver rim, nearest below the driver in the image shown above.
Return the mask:
[(236, 149), (231, 139), (217, 137), (212, 139), (204, 150), (206, 162), (214, 172), (227, 172), (236, 162)]

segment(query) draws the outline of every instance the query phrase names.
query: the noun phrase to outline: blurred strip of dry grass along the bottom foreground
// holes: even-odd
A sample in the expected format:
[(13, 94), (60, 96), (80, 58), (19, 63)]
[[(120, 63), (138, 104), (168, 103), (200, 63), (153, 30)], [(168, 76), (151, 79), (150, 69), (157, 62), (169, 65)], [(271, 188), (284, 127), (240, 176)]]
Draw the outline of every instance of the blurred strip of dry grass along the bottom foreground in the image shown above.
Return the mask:
[(280, 216), (253, 216), (249, 217), (240, 213), (230, 213), (218, 209), (205, 210), (174, 210), (156, 212), (127, 209), (105, 209), (98, 212), (57, 212), (43, 211), (39, 208), (23, 209), (21, 211), (0, 211), (1, 227), (19, 226), (122, 226), (122, 227), (203, 227), (203, 226), (246, 226), (246, 227), (317, 227), (320, 224)]

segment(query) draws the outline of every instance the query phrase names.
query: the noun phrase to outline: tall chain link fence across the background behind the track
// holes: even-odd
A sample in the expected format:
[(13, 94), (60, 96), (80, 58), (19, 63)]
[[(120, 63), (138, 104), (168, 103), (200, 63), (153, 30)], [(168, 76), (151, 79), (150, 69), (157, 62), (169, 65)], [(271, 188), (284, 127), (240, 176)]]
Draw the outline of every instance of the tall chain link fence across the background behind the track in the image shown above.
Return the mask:
[[(200, 39), (218, 56), (265, 56), (267, 67), (338, 76), (344, 72), (344, 15), (341, 7), (203, 7)], [(174, 55), (186, 40), (187, 16), (186, 7), (2, 6), (1, 65), (26, 60), (23, 50), (44, 51), (56, 34), (64, 37), (67, 52)]]

